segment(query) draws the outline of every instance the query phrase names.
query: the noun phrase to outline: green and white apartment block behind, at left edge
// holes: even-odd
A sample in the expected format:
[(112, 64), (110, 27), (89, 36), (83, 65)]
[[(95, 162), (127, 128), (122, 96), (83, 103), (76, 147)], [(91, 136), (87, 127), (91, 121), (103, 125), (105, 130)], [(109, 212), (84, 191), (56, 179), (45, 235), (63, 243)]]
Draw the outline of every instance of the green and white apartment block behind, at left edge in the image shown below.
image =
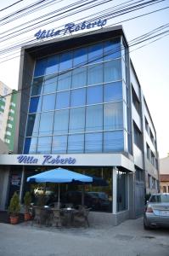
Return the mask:
[(16, 103), (16, 90), (0, 82), (0, 138), (11, 152), (14, 151)]

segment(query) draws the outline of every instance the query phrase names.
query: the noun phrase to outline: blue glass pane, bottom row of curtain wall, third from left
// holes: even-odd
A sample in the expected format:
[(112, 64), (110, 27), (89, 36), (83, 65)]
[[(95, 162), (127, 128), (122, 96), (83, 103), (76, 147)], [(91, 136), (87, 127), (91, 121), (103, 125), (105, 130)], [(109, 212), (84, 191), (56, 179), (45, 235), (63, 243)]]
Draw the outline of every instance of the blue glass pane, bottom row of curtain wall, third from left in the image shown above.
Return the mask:
[(54, 136), (52, 154), (65, 154), (67, 149), (67, 136)]

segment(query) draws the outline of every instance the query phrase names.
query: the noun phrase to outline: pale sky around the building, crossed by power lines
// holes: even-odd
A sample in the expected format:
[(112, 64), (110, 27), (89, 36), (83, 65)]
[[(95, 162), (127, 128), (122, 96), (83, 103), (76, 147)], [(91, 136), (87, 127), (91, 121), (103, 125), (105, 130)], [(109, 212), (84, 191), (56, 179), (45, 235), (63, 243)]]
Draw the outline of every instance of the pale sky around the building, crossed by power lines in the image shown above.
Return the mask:
[[(37, 0), (22, 0), (20, 3), (14, 4), (13, 7), (2, 10), (10, 4), (16, 3), (16, 0), (6, 0), (0, 2), (0, 81), (8, 85), (11, 89), (18, 88), (18, 77), (19, 77), (19, 67), (20, 67), (20, 47), (15, 51), (9, 51), (9, 47), (13, 47), (18, 44), (27, 44), (29, 40), (34, 40), (34, 34), (40, 28), (41, 29), (52, 29), (58, 26), (65, 26), (68, 22), (75, 22), (79, 19), (87, 20), (88, 15), (98, 15), (100, 11), (110, 9), (115, 7), (117, 4), (125, 3), (135, 3), (137, 0), (114, 0), (109, 3), (95, 7), (88, 8), (86, 11), (77, 9), (76, 15), (68, 16), (65, 14), (65, 18), (60, 20), (55, 20), (48, 25), (39, 24), (37, 29), (32, 29), (30, 32), (22, 32), (22, 28), (25, 26), (30, 26), (35, 22), (37, 17), (42, 17), (42, 15), (47, 15), (49, 12), (64, 8), (70, 3), (75, 3), (77, 0), (45, 0), (44, 3), (48, 3), (48, 7), (38, 10), (30, 15), (24, 15), (20, 19), (15, 19), (11, 16), (11, 21), (8, 24), (4, 24), (4, 18), (11, 14), (14, 14), (19, 9), (27, 7), (30, 4), (37, 3)], [(139, 1), (143, 3), (147, 0)], [(85, 3), (85, 1), (79, 1)], [(100, 0), (98, 0), (100, 3)], [(127, 4), (126, 3), (126, 4)], [(51, 5), (50, 5), (51, 4)], [(159, 26), (164, 26), (169, 23), (169, 9), (164, 9), (169, 7), (169, 0), (163, 0), (159, 3), (153, 4), (144, 9), (139, 9), (127, 15), (121, 15), (119, 17), (110, 19), (107, 21), (106, 26), (122, 25), (127, 41), (133, 38), (138, 38), (144, 33), (150, 32)], [(163, 9), (151, 15), (144, 15), (145, 13)], [(108, 11), (107, 10), (107, 11)], [(137, 15), (144, 15), (137, 19), (124, 21), (135, 17)], [(13, 19), (13, 20), (12, 20)], [(54, 20), (54, 19), (53, 19)], [(25, 24), (25, 22), (27, 22)], [(29, 22), (29, 23), (28, 23)], [(117, 24), (118, 23), (118, 24)], [(20, 35), (14, 34), (14, 32), (19, 31)], [(166, 28), (167, 30), (167, 28)], [(165, 30), (164, 30), (165, 31)], [(21, 33), (22, 32), (22, 33)], [(162, 31), (163, 32), (163, 31)], [(169, 34), (169, 32), (168, 32)], [(5, 38), (6, 37), (6, 38)], [(147, 44), (145, 42), (144, 44)], [(149, 107), (149, 112), (154, 121), (155, 130), (157, 133), (157, 146), (160, 158), (166, 157), (169, 152), (169, 35), (155, 41), (152, 44), (147, 44), (146, 46), (137, 49), (139, 46), (144, 44), (138, 44), (137, 46), (130, 49), (130, 57), (132, 59), (133, 66), (138, 75), (138, 80), (141, 84), (142, 90), (144, 91), (144, 96)], [(5, 54), (4, 51), (7, 50)]]

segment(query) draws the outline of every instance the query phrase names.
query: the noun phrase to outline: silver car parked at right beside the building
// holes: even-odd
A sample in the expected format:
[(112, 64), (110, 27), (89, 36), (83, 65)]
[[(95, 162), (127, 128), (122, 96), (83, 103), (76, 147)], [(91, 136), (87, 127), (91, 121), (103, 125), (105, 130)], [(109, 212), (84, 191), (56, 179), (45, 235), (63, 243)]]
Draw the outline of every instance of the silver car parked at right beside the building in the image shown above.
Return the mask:
[(144, 229), (169, 227), (169, 193), (153, 194), (144, 212)]

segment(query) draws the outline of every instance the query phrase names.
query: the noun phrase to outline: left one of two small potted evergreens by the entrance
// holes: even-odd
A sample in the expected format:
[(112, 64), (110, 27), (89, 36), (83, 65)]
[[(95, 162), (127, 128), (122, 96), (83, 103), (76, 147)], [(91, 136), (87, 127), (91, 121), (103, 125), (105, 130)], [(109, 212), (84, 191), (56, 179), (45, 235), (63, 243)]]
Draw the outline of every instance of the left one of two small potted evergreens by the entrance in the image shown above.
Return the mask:
[(10, 214), (10, 223), (17, 224), (20, 213), (20, 198), (16, 192), (14, 192), (14, 195), (10, 200), (8, 212)]

